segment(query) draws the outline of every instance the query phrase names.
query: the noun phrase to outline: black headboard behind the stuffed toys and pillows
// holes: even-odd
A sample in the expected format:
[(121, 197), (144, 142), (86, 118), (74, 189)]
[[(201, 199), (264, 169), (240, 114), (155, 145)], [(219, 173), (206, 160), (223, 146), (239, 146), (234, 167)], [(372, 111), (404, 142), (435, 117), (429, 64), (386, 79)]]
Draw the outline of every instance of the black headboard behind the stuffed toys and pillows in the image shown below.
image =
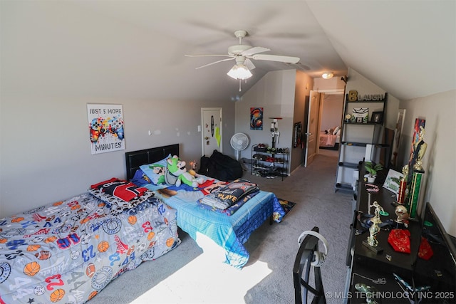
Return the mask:
[(167, 145), (163, 147), (150, 148), (132, 152), (125, 152), (125, 164), (127, 167), (127, 180), (135, 175), (136, 170), (142, 164), (152, 164), (164, 159), (169, 154), (179, 156), (179, 144)]

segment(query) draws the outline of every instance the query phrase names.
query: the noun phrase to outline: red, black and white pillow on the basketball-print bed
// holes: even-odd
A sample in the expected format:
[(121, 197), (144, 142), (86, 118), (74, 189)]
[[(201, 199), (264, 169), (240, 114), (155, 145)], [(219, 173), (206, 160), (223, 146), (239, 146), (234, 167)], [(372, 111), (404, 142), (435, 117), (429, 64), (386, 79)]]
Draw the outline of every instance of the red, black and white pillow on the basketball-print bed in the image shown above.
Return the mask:
[(144, 187), (116, 178), (93, 184), (88, 192), (104, 201), (110, 208), (122, 210), (134, 208), (154, 195)]

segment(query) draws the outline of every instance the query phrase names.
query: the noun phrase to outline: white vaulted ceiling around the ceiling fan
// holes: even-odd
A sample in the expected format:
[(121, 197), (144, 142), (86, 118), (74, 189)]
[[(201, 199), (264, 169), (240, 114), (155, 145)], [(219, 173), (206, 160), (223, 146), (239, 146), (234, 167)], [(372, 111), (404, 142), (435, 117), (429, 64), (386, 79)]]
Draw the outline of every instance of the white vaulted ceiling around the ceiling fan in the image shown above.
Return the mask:
[[(269, 70), (290, 68), (311, 77), (353, 68), (401, 100), (456, 88), (453, 0), (2, 0), (1, 17), (2, 65), (28, 68), (24, 85), (41, 91), (237, 100)], [(226, 54), (239, 29), (244, 43), (300, 63), (253, 61), (239, 93), (226, 74), (234, 61), (195, 69), (224, 58), (185, 57)]]

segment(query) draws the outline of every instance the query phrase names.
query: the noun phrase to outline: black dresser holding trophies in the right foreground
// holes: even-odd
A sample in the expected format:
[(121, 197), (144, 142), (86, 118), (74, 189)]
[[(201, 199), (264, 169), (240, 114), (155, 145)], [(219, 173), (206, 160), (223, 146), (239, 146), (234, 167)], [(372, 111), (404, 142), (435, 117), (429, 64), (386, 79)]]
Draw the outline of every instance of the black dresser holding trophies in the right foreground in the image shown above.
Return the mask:
[[(388, 235), (391, 229), (404, 228), (395, 226), (394, 222), (397, 219), (396, 195), (382, 187), (381, 178), (375, 182), (378, 192), (368, 192), (367, 189), (376, 187), (366, 186), (363, 167), (361, 162), (346, 260), (347, 288), (343, 295), (346, 303), (369, 303), (369, 298), (377, 303), (388, 304), (411, 303), (409, 298), (420, 303), (456, 303), (456, 249), (431, 204), (426, 204), (420, 217), (408, 222), (410, 253), (395, 251), (388, 243)], [(383, 228), (377, 235), (377, 248), (369, 248), (364, 244), (369, 236), (366, 229), (370, 223), (366, 221), (369, 218), (368, 193), (371, 193), (371, 204), (378, 201), (388, 214), (380, 215), (383, 222), (380, 226)], [(375, 207), (371, 206), (370, 213), (374, 214), (374, 211)], [(422, 237), (432, 248), (432, 257), (427, 261), (418, 257)], [(366, 289), (373, 293), (363, 292)]]

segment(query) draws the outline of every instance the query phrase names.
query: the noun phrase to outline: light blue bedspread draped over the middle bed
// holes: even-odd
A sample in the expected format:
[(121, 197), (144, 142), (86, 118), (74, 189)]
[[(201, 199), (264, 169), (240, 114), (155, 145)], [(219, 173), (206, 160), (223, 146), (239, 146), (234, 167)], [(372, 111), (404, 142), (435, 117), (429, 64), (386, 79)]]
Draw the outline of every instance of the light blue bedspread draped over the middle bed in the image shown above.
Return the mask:
[[(152, 184), (150, 189), (157, 190)], [(271, 192), (260, 191), (234, 214), (228, 216), (199, 206), (197, 199), (202, 197), (202, 192), (188, 191), (186, 187), (167, 189), (174, 192), (174, 195), (167, 196), (157, 191), (156, 196), (177, 210), (177, 226), (195, 240), (197, 233), (208, 236), (224, 248), (225, 263), (235, 268), (242, 268), (249, 261), (249, 252), (243, 244), (250, 234), (269, 219), (269, 216), (279, 222), (285, 214), (279, 200)]]

